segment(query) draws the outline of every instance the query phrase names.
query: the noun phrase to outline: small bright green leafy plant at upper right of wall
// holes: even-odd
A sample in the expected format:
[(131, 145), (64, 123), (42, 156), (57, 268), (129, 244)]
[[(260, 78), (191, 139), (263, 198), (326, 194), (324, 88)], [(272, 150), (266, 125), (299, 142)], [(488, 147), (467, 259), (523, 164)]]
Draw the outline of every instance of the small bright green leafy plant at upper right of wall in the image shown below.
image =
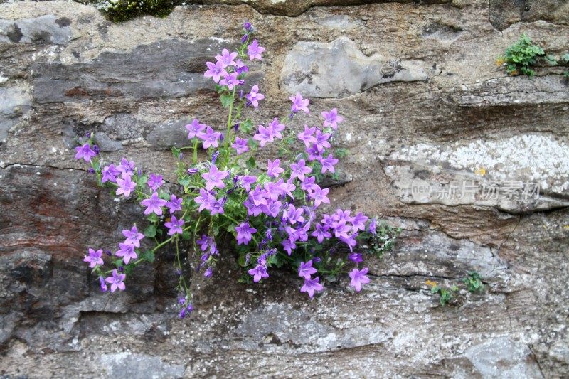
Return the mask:
[(534, 45), (531, 39), (523, 34), (519, 41), (506, 49), (503, 57), (498, 58), (496, 64), (506, 63), (506, 72), (509, 75), (536, 75), (531, 69), (536, 65), (537, 58), (546, 57), (546, 52), (541, 46)]

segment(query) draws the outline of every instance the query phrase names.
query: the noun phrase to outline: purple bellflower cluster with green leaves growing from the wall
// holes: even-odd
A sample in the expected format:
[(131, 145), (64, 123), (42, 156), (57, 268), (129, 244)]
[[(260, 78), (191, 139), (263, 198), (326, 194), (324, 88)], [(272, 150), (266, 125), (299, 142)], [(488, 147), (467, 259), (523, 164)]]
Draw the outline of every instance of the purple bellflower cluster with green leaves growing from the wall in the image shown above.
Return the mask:
[[(195, 262), (193, 268), (208, 278), (222, 255), (235, 254), (243, 267), (240, 282), (257, 283), (275, 269), (293, 269), (304, 279), (300, 292), (311, 298), (341, 274), (349, 274), (356, 292), (370, 281), (368, 269), (359, 268), (366, 250), (358, 244), (378, 241), (375, 218), (321, 209), (329, 210), (330, 203), (322, 179), (339, 178), (335, 155), (341, 154), (333, 144), (344, 119), (334, 108), (321, 112), (318, 124), (302, 123), (300, 130), (287, 125), (310, 114), (309, 99), (300, 93), (290, 97), (292, 104), (282, 117), (260, 124), (246, 117), (265, 99), (259, 86), (247, 81), (248, 65), (265, 53), (253, 33), (245, 23), (239, 47), (224, 48), (215, 62), (206, 62), (204, 77), (213, 80), (228, 119), (223, 132), (199, 119), (186, 125), (189, 145), (172, 148), (177, 183), (144, 174), (126, 158), (116, 166), (104, 164), (92, 135), (76, 148), (75, 158), (90, 162), (102, 185), (111, 186), (117, 196), (136, 198), (149, 224), (143, 233), (137, 225), (123, 230), (126, 240), (114, 254), (107, 252), (107, 263), (114, 267), (104, 269), (102, 250), (89, 249), (85, 262), (100, 277), (102, 290), (109, 284), (111, 292), (124, 290), (132, 267), (152, 262), (166, 244), (176, 249), (180, 317), (193, 311), (183, 261)], [(260, 149), (278, 153), (265, 165), (255, 159)], [(186, 150), (191, 155), (184, 155)]]

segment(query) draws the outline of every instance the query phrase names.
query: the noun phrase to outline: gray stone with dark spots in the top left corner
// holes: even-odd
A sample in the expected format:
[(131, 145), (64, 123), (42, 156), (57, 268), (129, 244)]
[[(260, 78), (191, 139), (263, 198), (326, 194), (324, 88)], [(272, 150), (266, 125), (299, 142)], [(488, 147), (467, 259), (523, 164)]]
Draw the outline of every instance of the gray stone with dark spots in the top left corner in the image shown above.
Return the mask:
[(73, 36), (70, 24), (69, 18), (58, 18), (53, 14), (18, 20), (0, 19), (0, 42), (61, 45)]

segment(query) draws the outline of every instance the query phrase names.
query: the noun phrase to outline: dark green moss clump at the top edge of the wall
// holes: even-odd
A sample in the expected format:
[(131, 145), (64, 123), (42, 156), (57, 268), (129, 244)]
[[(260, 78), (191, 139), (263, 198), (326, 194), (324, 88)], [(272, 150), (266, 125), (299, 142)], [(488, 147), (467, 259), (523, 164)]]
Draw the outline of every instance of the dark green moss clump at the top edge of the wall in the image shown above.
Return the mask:
[(92, 0), (92, 2), (113, 22), (127, 21), (144, 14), (166, 17), (174, 6), (181, 3), (176, 0)]

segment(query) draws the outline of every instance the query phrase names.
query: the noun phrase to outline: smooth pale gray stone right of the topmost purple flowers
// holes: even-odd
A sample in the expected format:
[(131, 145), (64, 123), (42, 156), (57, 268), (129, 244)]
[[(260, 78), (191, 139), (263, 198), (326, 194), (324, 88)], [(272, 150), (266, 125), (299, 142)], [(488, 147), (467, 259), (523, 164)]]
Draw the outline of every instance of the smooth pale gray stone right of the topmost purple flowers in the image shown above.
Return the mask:
[(386, 82), (427, 79), (419, 60), (368, 57), (346, 37), (331, 43), (298, 42), (280, 73), (287, 92), (301, 92), (305, 97), (346, 97)]

